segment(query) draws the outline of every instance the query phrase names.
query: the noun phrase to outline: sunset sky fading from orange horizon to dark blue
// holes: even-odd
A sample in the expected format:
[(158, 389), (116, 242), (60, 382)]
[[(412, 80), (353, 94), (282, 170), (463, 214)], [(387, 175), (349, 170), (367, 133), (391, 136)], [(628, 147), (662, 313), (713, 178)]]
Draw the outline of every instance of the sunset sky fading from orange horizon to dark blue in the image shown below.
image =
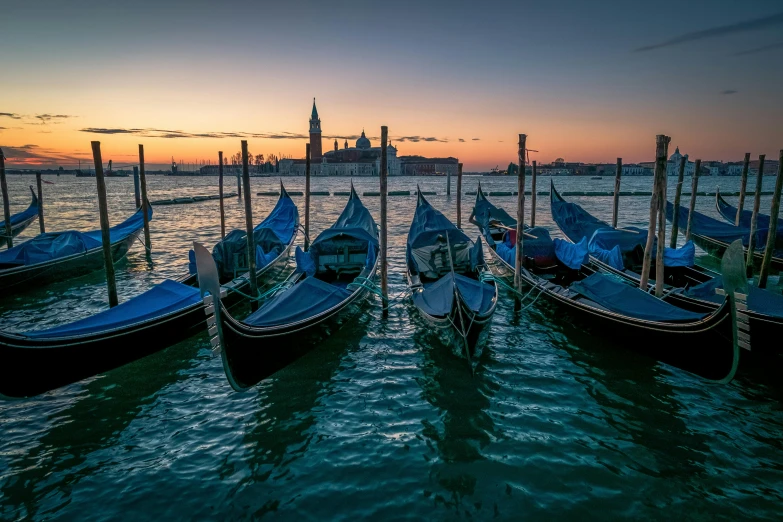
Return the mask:
[(301, 158), (313, 98), (324, 150), (387, 125), (466, 171), (519, 133), (540, 163), (783, 148), (780, 0), (4, 0), (0, 49), (10, 167)]

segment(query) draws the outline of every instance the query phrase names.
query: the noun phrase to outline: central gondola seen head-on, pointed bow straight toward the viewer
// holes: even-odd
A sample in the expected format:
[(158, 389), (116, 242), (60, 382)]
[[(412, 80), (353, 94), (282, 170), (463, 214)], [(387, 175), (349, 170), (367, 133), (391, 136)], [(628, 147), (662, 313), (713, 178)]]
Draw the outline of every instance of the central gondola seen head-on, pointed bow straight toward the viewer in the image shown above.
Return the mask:
[(498, 288), (484, 262), (483, 242), (470, 240), (418, 191), (408, 232), (408, 288), (419, 315), (473, 367), (481, 333), (492, 318)]

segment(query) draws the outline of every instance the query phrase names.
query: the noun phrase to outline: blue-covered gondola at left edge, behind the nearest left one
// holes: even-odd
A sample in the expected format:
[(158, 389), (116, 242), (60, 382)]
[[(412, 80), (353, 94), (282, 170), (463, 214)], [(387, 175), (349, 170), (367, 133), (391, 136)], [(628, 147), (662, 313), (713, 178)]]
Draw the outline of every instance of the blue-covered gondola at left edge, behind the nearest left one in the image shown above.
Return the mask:
[[(149, 218), (152, 219), (152, 207)], [(127, 254), (144, 226), (141, 209), (111, 227), (116, 263)], [(62, 281), (103, 268), (101, 231), (47, 232), (0, 252), (0, 291), (4, 295)]]

